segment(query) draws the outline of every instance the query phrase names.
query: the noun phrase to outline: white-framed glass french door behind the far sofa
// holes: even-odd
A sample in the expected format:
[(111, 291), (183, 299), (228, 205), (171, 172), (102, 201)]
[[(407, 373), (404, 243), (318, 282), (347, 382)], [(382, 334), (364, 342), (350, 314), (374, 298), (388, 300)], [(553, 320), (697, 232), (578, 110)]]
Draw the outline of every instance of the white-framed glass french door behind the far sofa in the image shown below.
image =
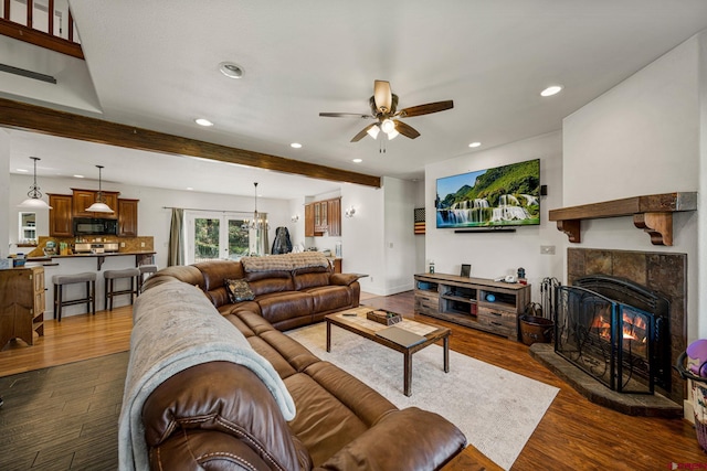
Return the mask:
[(187, 264), (215, 258), (238, 260), (251, 251), (251, 232), (236, 213), (187, 213)]

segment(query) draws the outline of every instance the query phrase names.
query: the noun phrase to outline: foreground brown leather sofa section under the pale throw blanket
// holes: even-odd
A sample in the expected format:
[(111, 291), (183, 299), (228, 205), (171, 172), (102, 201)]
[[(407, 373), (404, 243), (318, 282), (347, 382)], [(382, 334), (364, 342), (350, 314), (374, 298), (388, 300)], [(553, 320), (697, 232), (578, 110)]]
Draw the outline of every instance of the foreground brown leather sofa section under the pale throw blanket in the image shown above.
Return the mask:
[[(140, 296), (145, 299), (138, 298), (135, 329), (140, 328), (141, 317), (159, 311), (160, 297), (171, 283), (214, 288), (215, 282), (204, 281), (215, 281), (213, 267), (171, 267), (154, 276)], [(200, 275), (204, 272), (210, 275)], [(157, 288), (163, 283), (170, 285)], [(358, 303), (358, 287), (334, 286), (356, 291)], [(207, 289), (209, 298), (218, 298), (213, 291), (219, 289)], [(274, 366), (294, 399), (296, 415), (286, 421), (264, 383), (245, 366), (211, 361), (188, 367), (159, 384), (141, 407), (151, 469), (422, 471), (441, 469), (466, 446), (464, 435), (449, 420), (415, 407), (398, 409), (275, 329), (261, 315), (272, 314), (270, 308), (263, 309), (270, 304), (255, 312), (245, 306), (222, 309), (226, 304), (217, 311), (200, 296), (192, 303), (198, 304), (199, 318), (218, 317), (220, 311)], [(143, 312), (145, 306), (152, 312)], [(169, 319), (168, 312), (160, 315)], [(315, 318), (319, 314), (309, 320)], [(275, 319), (279, 325), (288, 322)], [(139, 353), (131, 350), (133, 355)]]

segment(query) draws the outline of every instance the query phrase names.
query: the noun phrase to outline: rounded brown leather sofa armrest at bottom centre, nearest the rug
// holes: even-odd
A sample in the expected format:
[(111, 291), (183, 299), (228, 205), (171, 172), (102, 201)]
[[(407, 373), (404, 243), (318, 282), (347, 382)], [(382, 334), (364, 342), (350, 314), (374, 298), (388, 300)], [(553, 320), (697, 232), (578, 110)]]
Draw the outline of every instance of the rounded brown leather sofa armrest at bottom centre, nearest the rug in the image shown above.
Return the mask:
[(409, 407), (386, 415), (317, 470), (439, 470), (466, 447), (444, 417)]

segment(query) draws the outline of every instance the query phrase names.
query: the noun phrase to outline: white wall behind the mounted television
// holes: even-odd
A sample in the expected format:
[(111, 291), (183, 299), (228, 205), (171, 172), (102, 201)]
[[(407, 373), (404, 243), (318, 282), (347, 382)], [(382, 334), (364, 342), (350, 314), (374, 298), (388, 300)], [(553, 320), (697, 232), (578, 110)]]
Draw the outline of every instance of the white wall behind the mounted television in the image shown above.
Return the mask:
[[(564, 266), (562, 247), (567, 237), (548, 221), (548, 211), (562, 206), (561, 150), (561, 135), (557, 131), (426, 165), (426, 263), (434, 260), (436, 272), (454, 275), (458, 275), (462, 264), (471, 264), (472, 277), (477, 278), (516, 275), (523, 267), (532, 285), (532, 300), (539, 302), (542, 278), (561, 278)], [(540, 159), (540, 183), (548, 185), (548, 196), (540, 199), (539, 226), (518, 227), (515, 233), (469, 234), (436, 228), (436, 179), (531, 159)], [(556, 255), (541, 255), (542, 245), (555, 246)]]

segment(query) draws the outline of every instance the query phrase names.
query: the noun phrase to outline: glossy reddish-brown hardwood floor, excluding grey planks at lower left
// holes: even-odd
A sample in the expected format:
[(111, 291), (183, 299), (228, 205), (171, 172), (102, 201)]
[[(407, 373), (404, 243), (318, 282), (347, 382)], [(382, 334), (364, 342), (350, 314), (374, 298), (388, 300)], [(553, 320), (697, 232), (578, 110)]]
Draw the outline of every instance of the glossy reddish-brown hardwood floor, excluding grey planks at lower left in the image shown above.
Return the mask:
[[(686, 420), (630, 417), (594, 405), (535, 361), (523, 343), (414, 315), (412, 291), (363, 296), (361, 302), (446, 325), (453, 350), (560, 388), (513, 470), (661, 470), (673, 463), (682, 465), (676, 469), (707, 468), (707, 454)], [(45, 335), (33, 346), (12, 341), (0, 351), (0, 377), (127, 351), (130, 328), (130, 307), (64, 318), (61, 324), (48, 320)], [(469, 447), (445, 471), (481, 469), (500, 468)]]

